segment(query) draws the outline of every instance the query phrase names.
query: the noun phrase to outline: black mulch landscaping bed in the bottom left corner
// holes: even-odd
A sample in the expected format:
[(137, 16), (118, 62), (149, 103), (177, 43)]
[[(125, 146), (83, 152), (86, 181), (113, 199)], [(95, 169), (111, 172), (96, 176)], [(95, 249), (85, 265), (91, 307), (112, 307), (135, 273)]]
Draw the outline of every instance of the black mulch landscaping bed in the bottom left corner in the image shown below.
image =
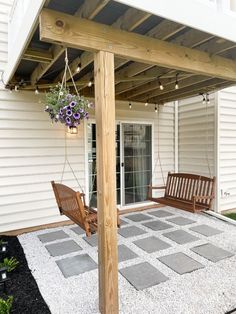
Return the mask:
[(28, 267), (18, 238), (1, 236), (0, 239), (8, 242), (8, 251), (5, 256), (1, 254), (0, 262), (3, 261), (4, 257), (15, 257), (19, 262), (16, 269), (8, 273), (9, 280), (6, 282), (6, 294), (3, 286), (0, 286), (0, 298), (6, 300), (8, 296), (13, 297), (10, 313), (50, 314), (51, 312), (42, 298), (38, 285)]

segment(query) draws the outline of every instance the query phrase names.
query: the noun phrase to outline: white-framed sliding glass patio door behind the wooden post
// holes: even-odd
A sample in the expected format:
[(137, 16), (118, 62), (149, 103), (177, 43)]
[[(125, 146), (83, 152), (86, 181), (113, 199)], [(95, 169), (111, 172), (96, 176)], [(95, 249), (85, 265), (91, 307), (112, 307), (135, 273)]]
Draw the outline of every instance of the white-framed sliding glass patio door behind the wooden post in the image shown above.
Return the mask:
[[(89, 205), (97, 207), (96, 125), (89, 123), (88, 173)], [(116, 126), (117, 204), (127, 205), (147, 199), (152, 170), (152, 126), (121, 123)]]

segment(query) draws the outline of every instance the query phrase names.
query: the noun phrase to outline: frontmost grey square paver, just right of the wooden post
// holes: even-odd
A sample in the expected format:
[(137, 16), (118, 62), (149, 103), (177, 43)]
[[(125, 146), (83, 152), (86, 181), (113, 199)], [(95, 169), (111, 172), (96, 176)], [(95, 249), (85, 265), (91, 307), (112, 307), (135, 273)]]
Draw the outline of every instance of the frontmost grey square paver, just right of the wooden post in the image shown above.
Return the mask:
[(150, 288), (168, 280), (168, 277), (147, 262), (120, 269), (120, 273), (137, 290)]

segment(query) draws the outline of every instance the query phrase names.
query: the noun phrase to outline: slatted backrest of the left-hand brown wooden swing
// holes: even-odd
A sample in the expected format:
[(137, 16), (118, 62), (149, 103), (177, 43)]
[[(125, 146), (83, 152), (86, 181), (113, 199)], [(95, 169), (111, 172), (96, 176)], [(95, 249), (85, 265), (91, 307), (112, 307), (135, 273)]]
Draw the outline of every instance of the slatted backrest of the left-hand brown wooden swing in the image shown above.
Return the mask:
[(83, 194), (72, 190), (64, 184), (55, 183), (54, 181), (51, 184), (60, 213), (68, 216), (84, 230), (89, 229), (86, 221), (85, 204), (82, 200)]

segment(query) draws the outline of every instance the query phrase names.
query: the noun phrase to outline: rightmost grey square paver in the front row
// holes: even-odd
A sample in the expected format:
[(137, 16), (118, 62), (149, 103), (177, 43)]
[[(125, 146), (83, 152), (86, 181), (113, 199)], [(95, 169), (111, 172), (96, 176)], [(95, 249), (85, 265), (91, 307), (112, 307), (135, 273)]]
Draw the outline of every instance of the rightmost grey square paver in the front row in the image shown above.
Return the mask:
[(195, 246), (191, 250), (211, 262), (218, 262), (222, 259), (233, 256), (231, 252), (223, 250), (210, 243)]

